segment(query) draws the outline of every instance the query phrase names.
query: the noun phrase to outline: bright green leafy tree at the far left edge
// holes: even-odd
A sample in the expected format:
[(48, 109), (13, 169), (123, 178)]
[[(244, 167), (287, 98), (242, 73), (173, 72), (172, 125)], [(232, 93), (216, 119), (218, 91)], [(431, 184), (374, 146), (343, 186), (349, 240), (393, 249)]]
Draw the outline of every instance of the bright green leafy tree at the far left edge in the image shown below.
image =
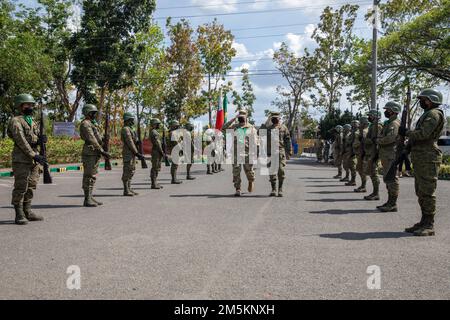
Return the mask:
[(45, 96), (51, 81), (51, 59), (46, 52), (36, 9), (19, 9), (12, 2), (0, 2), (0, 125), (2, 136), (14, 114), (14, 96), (30, 93)]

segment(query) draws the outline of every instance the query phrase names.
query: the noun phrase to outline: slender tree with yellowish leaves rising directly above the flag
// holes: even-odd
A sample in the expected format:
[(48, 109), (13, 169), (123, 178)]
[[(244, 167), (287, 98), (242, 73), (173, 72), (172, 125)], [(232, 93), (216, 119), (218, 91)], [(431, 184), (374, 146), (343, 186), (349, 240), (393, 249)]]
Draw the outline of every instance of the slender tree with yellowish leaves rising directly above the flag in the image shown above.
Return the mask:
[(231, 60), (236, 55), (233, 48), (234, 36), (214, 19), (212, 23), (200, 25), (197, 29), (197, 44), (207, 75), (209, 100), (209, 125), (212, 126), (212, 104), (218, 98), (218, 85), (224, 75), (231, 70)]

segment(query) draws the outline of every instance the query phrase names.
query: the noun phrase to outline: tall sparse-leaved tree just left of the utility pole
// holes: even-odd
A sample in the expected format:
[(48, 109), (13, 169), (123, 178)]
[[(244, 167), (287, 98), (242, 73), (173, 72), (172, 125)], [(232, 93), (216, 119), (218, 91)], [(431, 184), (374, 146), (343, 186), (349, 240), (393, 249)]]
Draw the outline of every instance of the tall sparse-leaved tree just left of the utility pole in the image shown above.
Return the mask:
[(316, 81), (318, 95), (312, 98), (316, 105), (325, 106), (328, 112), (334, 109), (347, 83), (343, 69), (352, 56), (353, 26), (358, 8), (357, 5), (346, 4), (333, 11), (326, 7), (312, 35), (318, 45), (314, 51), (316, 65), (321, 66)]

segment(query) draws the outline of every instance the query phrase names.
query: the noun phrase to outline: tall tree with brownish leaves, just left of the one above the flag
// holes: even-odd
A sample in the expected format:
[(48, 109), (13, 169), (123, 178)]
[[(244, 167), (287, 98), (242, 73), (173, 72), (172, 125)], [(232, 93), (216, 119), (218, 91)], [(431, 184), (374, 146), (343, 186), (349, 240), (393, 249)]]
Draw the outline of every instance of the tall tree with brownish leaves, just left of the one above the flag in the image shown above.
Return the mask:
[(166, 88), (165, 111), (168, 119), (181, 121), (206, 112), (204, 105), (194, 103), (203, 78), (202, 66), (189, 22), (181, 20), (171, 25), (168, 19), (167, 28), (171, 45), (166, 52), (170, 79)]

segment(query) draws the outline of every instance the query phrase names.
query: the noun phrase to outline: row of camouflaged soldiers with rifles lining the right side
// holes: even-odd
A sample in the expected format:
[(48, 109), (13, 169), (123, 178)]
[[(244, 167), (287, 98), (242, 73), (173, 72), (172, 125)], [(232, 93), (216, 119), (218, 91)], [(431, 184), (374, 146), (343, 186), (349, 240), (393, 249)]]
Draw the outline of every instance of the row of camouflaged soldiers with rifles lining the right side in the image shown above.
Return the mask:
[[(338, 174), (334, 177), (346, 182), (346, 186), (356, 186), (356, 174), (361, 178), (361, 186), (354, 189), (358, 193), (366, 193), (367, 177), (372, 182), (372, 193), (364, 197), (368, 201), (380, 200), (380, 179), (378, 175), (381, 162), (383, 181), (386, 184), (387, 202), (378, 206), (382, 212), (397, 212), (399, 196), (399, 180), (388, 179), (387, 174), (392, 166), (398, 165), (397, 147), (400, 136), (407, 137), (403, 155), (411, 153), (415, 177), (415, 191), (422, 211), (420, 222), (405, 232), (416, 236), (432, 236), (434, 217), (436, 214), (437, 180), (442, 163), (442, 152), (437, 146), (445, 124), (444, 112), (439, 109), (442, 104), (442, 94), (434, 89), (425, 89), (417, 97), (423, 115), (417, 121), (414, 129), (407, 130), (400, 125), (398, 115), (402, 106), (390, 101), (384, 107), (386, 121), (379, 122), (380, 113), (370, 110), (366, 117), (361, 117), (345, 126), (335, 128), (334, 161)], [(343, 175), (345, 171), (345, 176)]]

